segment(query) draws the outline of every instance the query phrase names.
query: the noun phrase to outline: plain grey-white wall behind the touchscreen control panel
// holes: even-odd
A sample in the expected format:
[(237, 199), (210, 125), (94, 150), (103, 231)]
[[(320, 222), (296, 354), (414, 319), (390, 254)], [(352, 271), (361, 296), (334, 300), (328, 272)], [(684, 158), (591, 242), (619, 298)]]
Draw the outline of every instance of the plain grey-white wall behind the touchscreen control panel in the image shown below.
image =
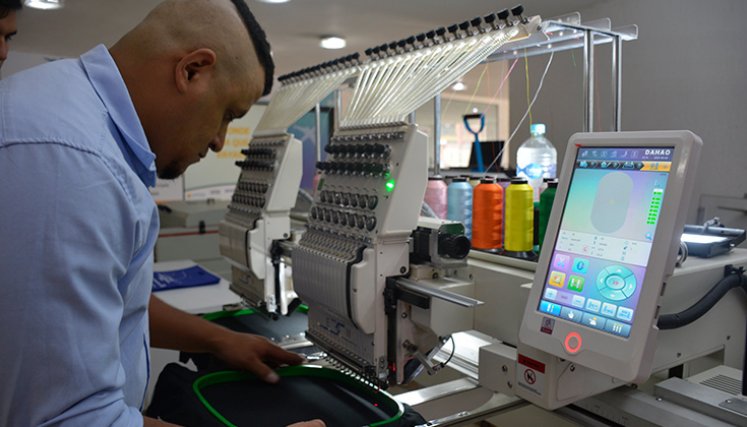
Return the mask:
[[(639, 27), (638, 40), (623, 47), (622, 130), (689, 129), (703, 139), (688, 221), (695, 220), (701, 194), (747, 193), (747, 1), (607, 0), (580, 12), (584, 20), (609, 17), (613, 27)], [(546, 61), (529, 60), (532, 91)], [(595, 130), (609, 130), (608, 46), (597, 48), (596, 61)], [(527, 105), (518, 65), (511, 76), (512, 127)], [(535, 122), (548, 125), (559, 162), (568, 138), (582, 129), (581, 67), (581, 50), (556, 54), (532, 112)], [(527, 122), (517, 133), (512, 159), (528, 128)]]

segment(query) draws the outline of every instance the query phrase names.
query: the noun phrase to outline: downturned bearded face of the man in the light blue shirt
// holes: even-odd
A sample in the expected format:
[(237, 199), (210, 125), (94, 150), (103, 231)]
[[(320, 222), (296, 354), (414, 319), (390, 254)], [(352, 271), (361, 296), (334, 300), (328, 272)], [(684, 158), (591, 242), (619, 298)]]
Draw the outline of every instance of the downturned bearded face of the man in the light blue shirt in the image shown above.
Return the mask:
[(171, 149), (158, 159), (159, 178), (177, 178), (189, 165), (204, 158), (208, 150), (218, 152), (223, 148), (229, 123), (244, 116), (262, 95), (262, 75), (244, 80), (243, 84), (234, 81), (220, 85), (190, 105), (172, 136)]

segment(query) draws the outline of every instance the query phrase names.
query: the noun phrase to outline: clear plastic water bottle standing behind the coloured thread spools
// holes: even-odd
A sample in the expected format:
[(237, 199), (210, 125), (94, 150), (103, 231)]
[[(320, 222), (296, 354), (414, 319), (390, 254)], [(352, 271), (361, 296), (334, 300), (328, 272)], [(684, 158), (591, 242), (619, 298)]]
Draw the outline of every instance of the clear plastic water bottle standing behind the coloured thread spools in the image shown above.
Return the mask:
[(516, 153), (516, 176), (524, 177), (534, 190), (534, 201), (539, 201), (542, 178), (555, 178), (558, 152), (545, 138), (545, 125), (534, 123), (529, 128), (532, 134)]

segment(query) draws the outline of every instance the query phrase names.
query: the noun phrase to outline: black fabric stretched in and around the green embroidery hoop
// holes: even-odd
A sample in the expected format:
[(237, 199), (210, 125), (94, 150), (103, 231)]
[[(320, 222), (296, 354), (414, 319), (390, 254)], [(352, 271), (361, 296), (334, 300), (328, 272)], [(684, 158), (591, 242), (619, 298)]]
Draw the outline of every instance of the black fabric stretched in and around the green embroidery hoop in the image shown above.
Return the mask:
[[(192, 391), (192, 383), (203, 373), (172, 363), (158, 377), (146, 415), (190, 426), (221, 426)], [(320, 418), (328, 427), (357, 427), (388, 419), (381, 408), (335, 381), (311, 377), (284, 377), (278, 384), (245, 380), (207, 386), (205, 398), (227, 420), (237, 426), (286, 426)], [(388, 425), (411, 427), (425, 420), (412, 408)]]

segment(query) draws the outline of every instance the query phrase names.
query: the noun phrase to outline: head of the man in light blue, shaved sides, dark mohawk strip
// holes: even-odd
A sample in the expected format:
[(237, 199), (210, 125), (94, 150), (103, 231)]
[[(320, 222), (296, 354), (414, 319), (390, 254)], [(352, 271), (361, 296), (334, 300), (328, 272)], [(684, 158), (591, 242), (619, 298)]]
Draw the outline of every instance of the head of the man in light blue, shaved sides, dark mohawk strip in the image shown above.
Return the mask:
[(272, 87), (264, 32), (244, 0), (165, 0), (109, 49), (156, 154), (179, 176)]

